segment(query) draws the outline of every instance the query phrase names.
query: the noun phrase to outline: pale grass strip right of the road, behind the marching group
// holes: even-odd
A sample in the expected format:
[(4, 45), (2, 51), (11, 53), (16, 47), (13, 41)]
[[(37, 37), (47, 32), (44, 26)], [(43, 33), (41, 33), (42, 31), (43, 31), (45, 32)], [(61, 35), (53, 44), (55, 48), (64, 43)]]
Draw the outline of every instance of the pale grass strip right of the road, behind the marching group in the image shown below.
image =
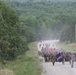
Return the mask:
[(57, 43), (57, 47), (59, 49), (63, 49), (65, 51), (74, 52), (76, 51), (76, 43), (66, 44), (63, 42)]

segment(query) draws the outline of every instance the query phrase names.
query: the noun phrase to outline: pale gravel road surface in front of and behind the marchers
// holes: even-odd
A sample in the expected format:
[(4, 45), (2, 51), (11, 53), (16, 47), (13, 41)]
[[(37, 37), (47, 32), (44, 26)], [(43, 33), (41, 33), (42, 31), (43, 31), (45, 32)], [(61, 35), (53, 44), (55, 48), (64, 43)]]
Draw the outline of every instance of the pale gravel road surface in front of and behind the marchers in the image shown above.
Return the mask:
[[(58, 40), (44, 41), (44, 43), (50, 43), (51, 45), (55, 45)], [(38, 48), (40, 50), (40, 48)], [(69, 62), (65, 62), (65, 65), (62, 63), (56, 62), (53, 66), (51, 62), (42, 62), (43, 73), (42, 75), (76, 75), (76, 62), (74, 63), (74, 67), (71, 68)]]

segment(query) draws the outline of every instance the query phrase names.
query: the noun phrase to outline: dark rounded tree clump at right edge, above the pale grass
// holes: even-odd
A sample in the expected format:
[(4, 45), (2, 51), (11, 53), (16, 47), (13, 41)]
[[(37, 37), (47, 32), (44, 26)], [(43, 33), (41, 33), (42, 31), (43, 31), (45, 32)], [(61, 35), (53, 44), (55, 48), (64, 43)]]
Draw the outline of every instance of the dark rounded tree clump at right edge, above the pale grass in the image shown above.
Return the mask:
[(63, 30), (60, 40), (71, 43), (75, 41), (75, 24), (72, 24)]

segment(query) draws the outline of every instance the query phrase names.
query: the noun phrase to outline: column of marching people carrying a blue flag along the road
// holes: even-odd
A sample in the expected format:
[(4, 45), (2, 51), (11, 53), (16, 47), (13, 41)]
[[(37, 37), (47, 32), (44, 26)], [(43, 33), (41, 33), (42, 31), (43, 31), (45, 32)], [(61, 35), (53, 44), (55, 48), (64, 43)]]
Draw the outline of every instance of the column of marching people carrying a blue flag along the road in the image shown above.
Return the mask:
[(52, 62), (53, 66), (55, 62), (65, 64), (65, 61), (69, 61), (71, 67), (73, 67), (76, 58), (76, 52), (66, 52), (63, 49), (57, 49), (53, 44), (43, 41), (38, 43), (38, 54), (44, 57), (45, 62)]

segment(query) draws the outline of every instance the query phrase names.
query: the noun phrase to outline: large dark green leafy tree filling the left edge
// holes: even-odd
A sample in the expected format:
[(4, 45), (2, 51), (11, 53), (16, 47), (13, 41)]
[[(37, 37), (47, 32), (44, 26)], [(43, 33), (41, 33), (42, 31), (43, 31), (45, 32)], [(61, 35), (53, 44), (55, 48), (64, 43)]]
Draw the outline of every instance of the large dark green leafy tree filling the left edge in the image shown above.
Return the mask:
[(16, 12), (0, 1), (0, 58), (12, 60), (27, 50)]

